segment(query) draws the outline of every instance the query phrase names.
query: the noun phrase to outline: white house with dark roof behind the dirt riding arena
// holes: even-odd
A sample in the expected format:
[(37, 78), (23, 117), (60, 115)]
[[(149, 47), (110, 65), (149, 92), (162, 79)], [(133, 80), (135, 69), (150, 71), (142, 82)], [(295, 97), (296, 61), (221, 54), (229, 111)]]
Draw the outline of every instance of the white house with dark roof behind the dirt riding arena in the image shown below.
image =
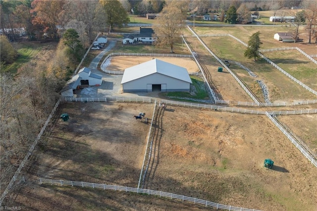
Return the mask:
[(152, 44), (154, 41), (153, 29), (140, 27), (140, 34), (124, 35), (122, 44)]

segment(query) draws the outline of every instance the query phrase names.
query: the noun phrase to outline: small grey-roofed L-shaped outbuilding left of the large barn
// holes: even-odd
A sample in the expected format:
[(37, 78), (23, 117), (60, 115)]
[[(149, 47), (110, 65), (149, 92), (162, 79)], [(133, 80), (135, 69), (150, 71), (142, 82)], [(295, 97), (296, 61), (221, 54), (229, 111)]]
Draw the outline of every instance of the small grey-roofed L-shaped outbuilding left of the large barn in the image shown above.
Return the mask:
[(62, 97), (74, 97), (78, 86), (98, 86), (103, 83), (102, 76), (91, 72), (87, 67), (81, 68), (78, 74), (74, 75), (61, 90)]

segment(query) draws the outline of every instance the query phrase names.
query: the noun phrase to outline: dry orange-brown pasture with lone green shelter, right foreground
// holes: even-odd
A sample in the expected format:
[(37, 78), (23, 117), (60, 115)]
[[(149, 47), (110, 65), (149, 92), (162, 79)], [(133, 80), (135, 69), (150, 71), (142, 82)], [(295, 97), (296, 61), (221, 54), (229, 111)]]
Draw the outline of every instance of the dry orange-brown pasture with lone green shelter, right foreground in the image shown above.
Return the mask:
[[(258, 210), (314, 208), (316, 187), (302, 188), (315, 183), (316, 167), (265, 115), (167, 104), (161, 125), (158, 163), (149, 169), (146, 188)], [(265, 169), (265, 158), (276, 168)]]

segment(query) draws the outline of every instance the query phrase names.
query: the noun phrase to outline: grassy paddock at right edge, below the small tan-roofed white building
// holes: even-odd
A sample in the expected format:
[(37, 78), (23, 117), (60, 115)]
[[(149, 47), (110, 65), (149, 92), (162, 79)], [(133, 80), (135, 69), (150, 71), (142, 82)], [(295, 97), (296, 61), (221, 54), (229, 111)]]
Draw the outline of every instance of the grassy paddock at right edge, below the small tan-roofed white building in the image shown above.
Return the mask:
[(288, 50), (263, 54), (294, 78), (317, 90), (317, 65), (302, 53)]

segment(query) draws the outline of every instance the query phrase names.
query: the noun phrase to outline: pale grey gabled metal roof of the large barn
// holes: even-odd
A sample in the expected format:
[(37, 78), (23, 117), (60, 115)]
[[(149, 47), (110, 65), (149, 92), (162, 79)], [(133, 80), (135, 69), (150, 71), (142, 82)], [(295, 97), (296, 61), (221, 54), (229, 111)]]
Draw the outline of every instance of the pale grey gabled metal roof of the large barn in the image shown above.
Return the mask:
[(192, 83), (187, 69), (177, 66), (159, 59), (152, 59), (142, 64), (126, 68), (121, 80), (121, 84), (148, 76), (154, 73), (159, 73), (172, 78)]

